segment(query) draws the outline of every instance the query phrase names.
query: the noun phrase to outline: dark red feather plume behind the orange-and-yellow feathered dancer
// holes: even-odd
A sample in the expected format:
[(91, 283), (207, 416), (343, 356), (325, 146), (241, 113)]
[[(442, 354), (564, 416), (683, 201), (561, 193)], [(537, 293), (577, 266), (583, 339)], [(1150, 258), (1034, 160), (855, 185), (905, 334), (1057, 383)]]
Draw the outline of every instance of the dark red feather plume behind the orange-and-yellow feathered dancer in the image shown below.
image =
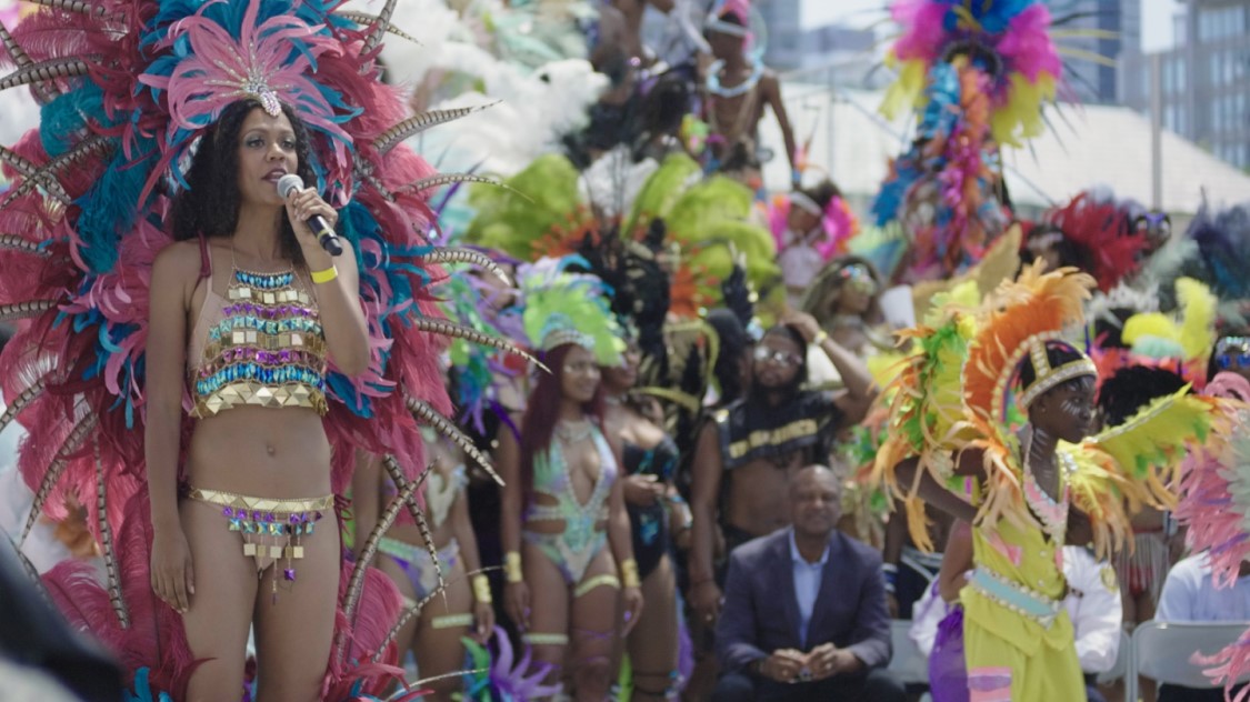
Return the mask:
[(1064, 207), (1046, 212), (1045, 221), (1085, 254), (1088, 270), (1104, 292), (1141, 265), (1146, 236), (1132, 229), (1129, 211), (1114, 200), (1082, 192)]

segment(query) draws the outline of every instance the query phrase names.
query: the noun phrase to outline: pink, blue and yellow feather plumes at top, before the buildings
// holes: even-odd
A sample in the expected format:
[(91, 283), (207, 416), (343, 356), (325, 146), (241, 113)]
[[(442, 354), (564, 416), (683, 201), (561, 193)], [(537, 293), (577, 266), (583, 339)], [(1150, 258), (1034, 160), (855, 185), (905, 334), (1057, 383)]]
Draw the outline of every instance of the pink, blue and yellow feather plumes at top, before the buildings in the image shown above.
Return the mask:
[(1050, 37), (1050, 10), (1040, 0), (898, 0), (890, 14), (902, 27), (891, 50), (899, 79), (882, 110), (921, 104), (934, 69), (956, 59), (984, 76), (986, 119), (994, 141), (1019, 145), (1044, 129), (1041, 106), (1052, 101), (1062, 75)]

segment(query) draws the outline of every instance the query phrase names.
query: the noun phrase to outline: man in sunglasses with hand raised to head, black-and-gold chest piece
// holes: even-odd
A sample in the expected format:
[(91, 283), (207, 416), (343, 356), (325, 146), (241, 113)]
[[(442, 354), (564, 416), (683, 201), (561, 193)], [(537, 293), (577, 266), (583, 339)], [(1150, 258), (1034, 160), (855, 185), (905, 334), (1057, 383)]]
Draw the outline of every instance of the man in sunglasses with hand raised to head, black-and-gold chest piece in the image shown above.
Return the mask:
[[(844, 378), (842, 395), (799, 390), (811, 344)], [(726, 555), (789, 525), (790, 477), (802, 466), (828, 461), (832, 437), (859, 422), (875, 395), (864, 362), (829, 339), (810, 315), (792, 314), (764, 335), (751, 356), (750, 391), (716, 412), (695, 450), (690, 602), (701, 621), (711, 622), (720, 611), (718, 523)]]

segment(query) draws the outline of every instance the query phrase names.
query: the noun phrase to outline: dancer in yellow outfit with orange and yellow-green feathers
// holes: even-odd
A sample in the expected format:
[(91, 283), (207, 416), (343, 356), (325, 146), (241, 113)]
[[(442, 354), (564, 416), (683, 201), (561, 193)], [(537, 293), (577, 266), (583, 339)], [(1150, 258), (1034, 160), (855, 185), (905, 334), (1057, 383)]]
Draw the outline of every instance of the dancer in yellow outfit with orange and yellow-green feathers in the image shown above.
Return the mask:
[(1122, 501), (1169, 501), (1155, 466), (1211, 417), (1209, 402), (1179, 392), (1086, 438), (1098, 371), (1061, 332), (1081, 322), (1094, 281), (1040, 271), (1002, 284), (979, 316), (952, 310), (911, 334), (921, 351), (896, 382), (878, 458), (904, 486), (918, 545), (921, 500), (972, 523), (975, 568), (960, 597), (969, 691), (1016, 702), (1085, 697), (1061, 605), (1069, 507), (1090, 516), (1105, 553), (1128, 532)]

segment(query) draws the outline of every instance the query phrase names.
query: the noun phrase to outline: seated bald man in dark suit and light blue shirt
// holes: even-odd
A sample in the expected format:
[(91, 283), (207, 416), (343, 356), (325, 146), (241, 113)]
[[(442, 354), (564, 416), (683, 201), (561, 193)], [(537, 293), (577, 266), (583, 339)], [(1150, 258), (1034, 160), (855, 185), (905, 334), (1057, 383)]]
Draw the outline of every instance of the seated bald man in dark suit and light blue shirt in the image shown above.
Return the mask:
[(714, 702), (902, 702), (890, 662), (881, 555), (836, 530), (841, 485), (809, 466), (790, 483), (792, 526), (730, 556), (716, 627)]

